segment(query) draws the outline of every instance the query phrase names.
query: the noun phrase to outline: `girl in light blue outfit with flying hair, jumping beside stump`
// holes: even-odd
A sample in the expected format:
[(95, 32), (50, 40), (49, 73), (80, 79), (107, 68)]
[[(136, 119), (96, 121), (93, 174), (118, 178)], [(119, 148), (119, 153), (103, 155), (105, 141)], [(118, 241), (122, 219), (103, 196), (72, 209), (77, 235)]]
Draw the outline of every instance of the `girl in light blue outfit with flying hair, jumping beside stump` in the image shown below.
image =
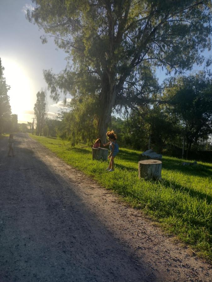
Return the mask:
[(114, 171), (114, 158), (118, 154), (118, 144), (117, 144), (117, 141), (116, 141), (117, 136), (116, 136), (116, 134), (114, 133), (113, 130), (108, 131), (106, 133), (106, 136), (108, 137), (109, 142), (107, 144), (103, 144), (103, 146), (109, 145), (109, 148), (111, 150), (111, 153), (108, 156), (108, 159), (111, 159), (111, 160), (110, 160), (110, 164), (109, 164), (108, 168), (106, 168), (106, 170), (112, 172), (112, 171)]

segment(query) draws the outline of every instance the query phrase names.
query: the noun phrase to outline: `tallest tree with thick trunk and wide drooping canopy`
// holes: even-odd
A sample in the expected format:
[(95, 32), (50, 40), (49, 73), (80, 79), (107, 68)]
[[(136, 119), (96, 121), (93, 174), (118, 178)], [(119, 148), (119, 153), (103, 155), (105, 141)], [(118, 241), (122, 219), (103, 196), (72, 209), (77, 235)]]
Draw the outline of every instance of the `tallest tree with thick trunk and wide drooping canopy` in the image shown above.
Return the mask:
[(58, 75), (44, 71), (55, 101), (69, 93), (97, 107), (103, 140), (115, 108), (136, 107), (158, 91), (155, 68), (190, 70), (210, 48), (210, 1), (33, 0), (27, 18), (67, 53)]

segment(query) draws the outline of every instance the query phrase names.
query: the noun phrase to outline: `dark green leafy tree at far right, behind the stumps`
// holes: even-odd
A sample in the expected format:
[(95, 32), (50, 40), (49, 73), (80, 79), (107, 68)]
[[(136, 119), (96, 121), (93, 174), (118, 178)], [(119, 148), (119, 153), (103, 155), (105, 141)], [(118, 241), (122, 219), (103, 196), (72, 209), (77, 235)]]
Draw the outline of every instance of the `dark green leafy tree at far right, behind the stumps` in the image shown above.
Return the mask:
[(180, 76), (167, 81), (165, 97), (169, 114), (177, 116), (182, 136), (187, 140), (187, 158), (192, 144), (208, 139), (212, 133), (212, 75), (205, 72)]

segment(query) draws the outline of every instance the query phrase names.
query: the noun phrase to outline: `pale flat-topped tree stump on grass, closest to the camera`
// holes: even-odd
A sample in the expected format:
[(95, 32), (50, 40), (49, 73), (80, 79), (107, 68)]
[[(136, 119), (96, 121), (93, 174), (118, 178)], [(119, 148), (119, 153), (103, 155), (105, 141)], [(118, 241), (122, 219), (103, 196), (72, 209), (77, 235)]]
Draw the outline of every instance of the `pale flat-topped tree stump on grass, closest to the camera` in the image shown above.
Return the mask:
[(162, 162), (156, 159), (139, 161), (139, 178), (145, 180), (161, 179)]

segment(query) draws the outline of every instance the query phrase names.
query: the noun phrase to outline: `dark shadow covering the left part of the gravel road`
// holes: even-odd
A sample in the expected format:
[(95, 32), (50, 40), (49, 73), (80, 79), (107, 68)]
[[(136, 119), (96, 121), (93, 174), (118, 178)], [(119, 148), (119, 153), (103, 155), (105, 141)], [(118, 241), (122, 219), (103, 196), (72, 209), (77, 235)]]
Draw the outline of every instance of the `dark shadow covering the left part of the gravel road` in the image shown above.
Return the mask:
[(85, 194), (91, 195), (92, 202), (93, 184), (87, 182), (86, 188), (79, 189), (72, 179), (40, 159), (36, 146), (35, 152), (19, 147), (16, 164), (6, 161), (11, 171), (17, 163), (33, 169), (5, 176), (0, 200), (7, 209), (1, 218), (2, 265), (7, 269), (4, 281), (21, 281), (26, 269), (28, 281), (161, 280), (128, 241), (115, 235), (110, 224), (105, 225), (110, 215), (102, 215), (95, 203), (86, 200)]

